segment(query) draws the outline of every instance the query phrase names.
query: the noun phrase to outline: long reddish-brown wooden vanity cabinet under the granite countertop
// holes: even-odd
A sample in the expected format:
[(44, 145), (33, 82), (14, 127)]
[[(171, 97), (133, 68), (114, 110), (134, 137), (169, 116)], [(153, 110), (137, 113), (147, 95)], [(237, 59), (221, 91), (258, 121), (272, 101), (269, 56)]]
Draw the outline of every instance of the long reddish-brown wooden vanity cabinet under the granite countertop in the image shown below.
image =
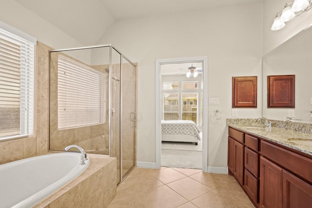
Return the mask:
[(228, 167), (257, 208), (312, 208), (312, 156), (229, 127)]

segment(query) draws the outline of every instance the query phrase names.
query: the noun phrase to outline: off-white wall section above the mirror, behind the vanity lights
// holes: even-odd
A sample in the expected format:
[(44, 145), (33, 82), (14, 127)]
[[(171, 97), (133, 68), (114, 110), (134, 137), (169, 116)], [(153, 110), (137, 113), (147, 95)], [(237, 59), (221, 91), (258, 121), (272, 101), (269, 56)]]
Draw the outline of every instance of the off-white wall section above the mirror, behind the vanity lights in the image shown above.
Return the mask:
[(312, 23), (312, 10), (295, 17), (278, 31), (272, 31), (271, 26), (277, 12), (283, 10), (285, 0), (263, 0), (263, 55), (306, 28)]

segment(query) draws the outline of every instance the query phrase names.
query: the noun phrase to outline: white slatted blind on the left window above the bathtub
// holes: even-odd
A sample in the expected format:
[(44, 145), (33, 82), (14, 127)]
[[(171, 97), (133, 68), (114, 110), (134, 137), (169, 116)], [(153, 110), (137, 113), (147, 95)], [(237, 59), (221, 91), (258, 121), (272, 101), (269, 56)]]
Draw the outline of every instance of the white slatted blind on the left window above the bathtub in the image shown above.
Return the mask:
[(0, 139), (33, 132), (34, 48), (0, 29)]

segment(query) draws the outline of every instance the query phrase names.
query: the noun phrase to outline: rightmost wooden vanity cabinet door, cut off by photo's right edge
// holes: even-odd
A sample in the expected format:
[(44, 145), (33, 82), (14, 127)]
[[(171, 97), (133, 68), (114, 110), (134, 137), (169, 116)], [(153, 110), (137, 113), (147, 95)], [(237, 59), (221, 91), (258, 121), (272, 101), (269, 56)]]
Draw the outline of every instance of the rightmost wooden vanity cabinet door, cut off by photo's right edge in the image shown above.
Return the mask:
[(283, 208), (312, 208), (312, 186), (283, 170)]

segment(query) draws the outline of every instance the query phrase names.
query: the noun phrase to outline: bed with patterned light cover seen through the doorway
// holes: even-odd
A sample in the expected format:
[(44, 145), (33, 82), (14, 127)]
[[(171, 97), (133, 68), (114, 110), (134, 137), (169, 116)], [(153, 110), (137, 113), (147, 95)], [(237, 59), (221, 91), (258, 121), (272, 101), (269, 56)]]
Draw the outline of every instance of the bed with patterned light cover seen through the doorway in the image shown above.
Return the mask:
[(200, 130), (194, 121), (190, 120), (162, 120), (161, 141), (194, 142), (200, 140)]

